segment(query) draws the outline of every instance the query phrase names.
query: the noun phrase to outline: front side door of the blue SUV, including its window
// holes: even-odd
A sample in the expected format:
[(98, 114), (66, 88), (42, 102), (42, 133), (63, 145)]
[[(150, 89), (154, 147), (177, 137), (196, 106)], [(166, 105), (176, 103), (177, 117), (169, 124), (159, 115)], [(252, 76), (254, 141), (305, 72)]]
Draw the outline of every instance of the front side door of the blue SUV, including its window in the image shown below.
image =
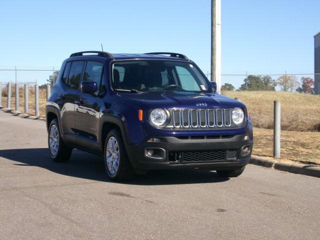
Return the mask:
[[(101, 87), (103, 75), (103, 63), (95, 60), (87, 60), (83, 73), (83, 81), (94, 81), (97, 84), (95, 93), (79, 92), (78, 103), (75, 104), (74, 122), (77, 137), (77, 145), (94, 150), (97, 145), (97, 129), (102, 102)], [(92, 143), (92, 144), (90, 144)]]

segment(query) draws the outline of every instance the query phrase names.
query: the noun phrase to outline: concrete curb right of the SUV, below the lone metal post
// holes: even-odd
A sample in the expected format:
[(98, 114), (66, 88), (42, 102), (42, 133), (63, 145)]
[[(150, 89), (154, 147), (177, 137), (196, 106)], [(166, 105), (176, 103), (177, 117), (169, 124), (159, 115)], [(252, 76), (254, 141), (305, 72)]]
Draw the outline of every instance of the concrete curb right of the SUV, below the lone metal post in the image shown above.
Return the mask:
[(281, 162), (254, 155), (251, 156), (250, 164), (274, 168), (280, 171), (287, 171), (296, 174), (320, 177), (320, 167), (314, 165)]

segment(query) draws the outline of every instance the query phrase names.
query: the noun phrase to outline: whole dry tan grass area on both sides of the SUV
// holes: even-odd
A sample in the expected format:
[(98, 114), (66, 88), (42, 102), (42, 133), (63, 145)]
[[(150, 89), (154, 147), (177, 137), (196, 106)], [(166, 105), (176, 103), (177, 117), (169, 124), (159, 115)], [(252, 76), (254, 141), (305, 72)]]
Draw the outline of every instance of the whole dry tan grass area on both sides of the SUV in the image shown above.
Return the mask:
[[(226, 91), (223, 94), (238, 97), (252, 115), (254, 127), (253, 154), (272, 156), (273, 100), (281, 102), (281, 160), (320, 165), (320, 96), (289, 92)], [(12, 92), (14, 96), (14, 92)], [(45, 90), (39, 90), (40, 116), (45, 115)], [(23, 95), (20, 111), (23, 112)], [(11, 108), (14, 108), (14, 97)], [(6, 97), (2, 97), (6, 106)], [(34, 94), (29, 92), (29, 113), (34, 114)]]

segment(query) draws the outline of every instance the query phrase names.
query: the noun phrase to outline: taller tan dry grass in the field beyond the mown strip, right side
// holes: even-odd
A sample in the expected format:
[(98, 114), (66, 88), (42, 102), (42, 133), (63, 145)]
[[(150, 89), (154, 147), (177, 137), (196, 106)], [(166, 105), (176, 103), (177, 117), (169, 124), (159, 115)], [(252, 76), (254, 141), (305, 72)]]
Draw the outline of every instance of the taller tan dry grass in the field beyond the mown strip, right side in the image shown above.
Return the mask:
[(253, 125), (273, 128), (273, 101), (281, 102), (281, 129), (320, 131), (320, 95), (277, 91), (225, 91), (238, 97), (252, 115)]

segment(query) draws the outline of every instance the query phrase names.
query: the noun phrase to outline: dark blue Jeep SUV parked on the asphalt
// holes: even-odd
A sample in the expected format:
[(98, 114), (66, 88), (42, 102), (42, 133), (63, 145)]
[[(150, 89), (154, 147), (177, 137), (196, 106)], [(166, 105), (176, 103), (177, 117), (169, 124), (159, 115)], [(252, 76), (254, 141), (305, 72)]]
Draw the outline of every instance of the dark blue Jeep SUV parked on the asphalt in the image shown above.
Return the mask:
[(46, 103), (50, 157), (67, 161), (73, 148), (101, 155), (115, 180), (186, 167), (238, 176), (251, 155), (251, 120), (215, 88), (179, 53), (73, 53)]

